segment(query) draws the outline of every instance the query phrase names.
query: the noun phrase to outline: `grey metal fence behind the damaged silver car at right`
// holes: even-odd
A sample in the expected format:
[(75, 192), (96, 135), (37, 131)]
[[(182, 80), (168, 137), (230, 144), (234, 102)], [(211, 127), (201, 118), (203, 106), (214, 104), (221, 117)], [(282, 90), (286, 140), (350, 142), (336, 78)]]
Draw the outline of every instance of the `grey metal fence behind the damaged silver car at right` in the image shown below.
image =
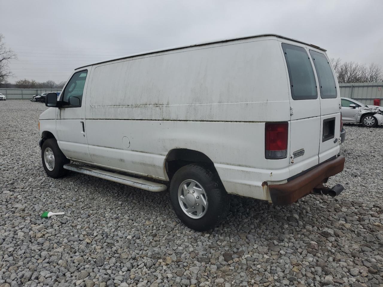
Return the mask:
[(380, 105), (383, 105), (383, 82), (339, 84), (339, 89), (341, 97), (371, 105), (374, 99), (380, 99)]

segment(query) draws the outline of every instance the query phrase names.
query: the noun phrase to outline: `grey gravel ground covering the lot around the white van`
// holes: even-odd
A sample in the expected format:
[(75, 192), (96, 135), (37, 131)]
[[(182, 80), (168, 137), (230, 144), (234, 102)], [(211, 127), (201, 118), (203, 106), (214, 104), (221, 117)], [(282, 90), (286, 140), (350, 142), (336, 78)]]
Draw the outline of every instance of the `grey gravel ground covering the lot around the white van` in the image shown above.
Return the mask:
[(330, 180), (340, 196), (286, 207), (233, 196), (228, 219), (200, 233), (179, 223), (167, 192), (48, 178), (45, 108), (0, 103), (0, 287), (383, 286), (383, 127), (345, 127), (346, 167)]

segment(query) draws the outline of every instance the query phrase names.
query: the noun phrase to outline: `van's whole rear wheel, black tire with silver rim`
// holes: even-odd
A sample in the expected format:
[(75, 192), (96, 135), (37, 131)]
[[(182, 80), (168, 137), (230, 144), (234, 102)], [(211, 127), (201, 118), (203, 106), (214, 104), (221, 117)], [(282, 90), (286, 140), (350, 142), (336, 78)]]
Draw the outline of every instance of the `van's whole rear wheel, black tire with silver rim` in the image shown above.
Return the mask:
[(229, 196), (218, 175), (196, 164), (183, 166), (174, 174), (170, 199), (178, 218), (196, 231), (215, 228), (229, 210)]

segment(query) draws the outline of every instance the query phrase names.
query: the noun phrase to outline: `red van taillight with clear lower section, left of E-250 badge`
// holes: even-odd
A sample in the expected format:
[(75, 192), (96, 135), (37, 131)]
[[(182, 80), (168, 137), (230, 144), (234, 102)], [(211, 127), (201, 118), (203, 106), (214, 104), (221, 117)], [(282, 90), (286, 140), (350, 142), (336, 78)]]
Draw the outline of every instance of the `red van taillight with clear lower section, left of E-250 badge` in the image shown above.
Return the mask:
[(278, 160), (287, 157), (288, 123), (265, 124), (265, 157)]

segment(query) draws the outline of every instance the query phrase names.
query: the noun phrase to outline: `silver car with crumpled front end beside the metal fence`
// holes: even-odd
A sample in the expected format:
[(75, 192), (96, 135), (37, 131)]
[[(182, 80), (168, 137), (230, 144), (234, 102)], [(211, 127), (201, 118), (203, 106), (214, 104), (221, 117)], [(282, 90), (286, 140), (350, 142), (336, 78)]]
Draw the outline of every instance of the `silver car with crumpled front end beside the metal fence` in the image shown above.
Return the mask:
[(343, 122), (355, 122), (364, 127), (376, 127), (383, 122), (383, 108), (367, 106), (355, 99), (341, 98)]

